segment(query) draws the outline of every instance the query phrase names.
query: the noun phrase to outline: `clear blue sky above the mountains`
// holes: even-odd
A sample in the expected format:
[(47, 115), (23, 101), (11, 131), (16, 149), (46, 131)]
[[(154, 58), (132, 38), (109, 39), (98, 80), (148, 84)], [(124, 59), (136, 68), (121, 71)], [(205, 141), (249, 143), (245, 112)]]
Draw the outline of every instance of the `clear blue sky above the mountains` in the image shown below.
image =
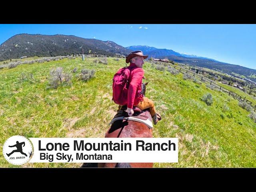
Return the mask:
[(256, 69), (256, 24), (0, 24), (0, 44), (20, 33), (148, 45)]

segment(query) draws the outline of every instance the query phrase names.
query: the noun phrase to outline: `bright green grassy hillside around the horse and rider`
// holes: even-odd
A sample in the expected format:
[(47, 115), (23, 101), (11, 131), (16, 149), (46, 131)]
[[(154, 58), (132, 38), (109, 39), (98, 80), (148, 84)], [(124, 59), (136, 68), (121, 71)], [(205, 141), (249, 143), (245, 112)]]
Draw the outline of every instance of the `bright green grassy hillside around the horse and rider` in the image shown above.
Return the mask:
[[(0, 70), (0, 150), (13, 135), (29, 137), (104, 137), (117, 105), (111, 101), (112, 77), (124, 59), (108, 58), (108, 65), (95, 58), (63, 59), (41, 64), (22, 64)], [(72, 86), (47, 89), (50, 69), (63, 67), (72, 74)], [(83, 68), (96, 70), (88, 82), (76, 78)], [(154, 163), (154, 167), (256, 167), (256, 123), (250, 112), (231, 96), (183, 80), (167, 71), (144, 64), (149, 81), (146, 96), (162, 115), (154, 137), (178, 137), (179, 162)], [(34, 80), (20, 80), (21, 74)], [(239, 91), (239, 90), (238, 90)], [(211, 93), (213, 104), (200, 98)], [(229, 110), (224, 110), (224, 105)], [(79, 167), (77, 163), (9, 164), (0, 153), (0, 167)]]

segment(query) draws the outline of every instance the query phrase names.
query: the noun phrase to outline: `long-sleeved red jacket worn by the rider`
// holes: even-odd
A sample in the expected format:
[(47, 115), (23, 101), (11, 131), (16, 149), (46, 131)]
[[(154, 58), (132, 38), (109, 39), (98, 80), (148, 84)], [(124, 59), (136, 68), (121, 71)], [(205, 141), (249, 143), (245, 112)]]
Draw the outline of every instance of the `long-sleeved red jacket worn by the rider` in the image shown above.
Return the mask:
[(131, 70), (129, 77), (129, 88), (128, 88), (128, 100), (127, 107), (132, 108), (139, 104), (143, 100), (141, 92), (142, 77), (144, 76), (144, 70), (137, 67), (134, 63), (130, 63)]

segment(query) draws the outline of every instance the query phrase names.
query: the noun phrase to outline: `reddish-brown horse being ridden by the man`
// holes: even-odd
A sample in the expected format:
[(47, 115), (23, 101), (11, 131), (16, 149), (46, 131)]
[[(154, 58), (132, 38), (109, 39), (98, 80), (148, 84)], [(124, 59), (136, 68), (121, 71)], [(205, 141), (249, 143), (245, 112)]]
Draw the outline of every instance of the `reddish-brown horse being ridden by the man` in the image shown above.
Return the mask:
[[(146, 84), (142, 84), (145, 96)], [(145, 110), (144, 110), (145, 111)], [(127, 114), (127, 113), (126, 113)], [(105, 134), (105, 138), (152, 138), (152, 129), (143, 123), (130, 120), (115, 121)], [(84, 163), (81, 167), (104, 168), (152, 168), (153, 163)]]

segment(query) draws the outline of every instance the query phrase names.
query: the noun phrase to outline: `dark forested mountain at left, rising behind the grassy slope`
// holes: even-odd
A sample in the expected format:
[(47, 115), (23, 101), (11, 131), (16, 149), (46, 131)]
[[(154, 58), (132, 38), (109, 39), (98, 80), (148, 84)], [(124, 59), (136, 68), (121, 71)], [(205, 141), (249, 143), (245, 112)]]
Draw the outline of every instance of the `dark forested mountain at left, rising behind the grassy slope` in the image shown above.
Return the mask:
[(0, 61), (22, 56), (59, 56), (71, 54), (114, 56), (131, 52), (112, 41), (85, 39), (73, 35), (17, 34), (0, 45)]

